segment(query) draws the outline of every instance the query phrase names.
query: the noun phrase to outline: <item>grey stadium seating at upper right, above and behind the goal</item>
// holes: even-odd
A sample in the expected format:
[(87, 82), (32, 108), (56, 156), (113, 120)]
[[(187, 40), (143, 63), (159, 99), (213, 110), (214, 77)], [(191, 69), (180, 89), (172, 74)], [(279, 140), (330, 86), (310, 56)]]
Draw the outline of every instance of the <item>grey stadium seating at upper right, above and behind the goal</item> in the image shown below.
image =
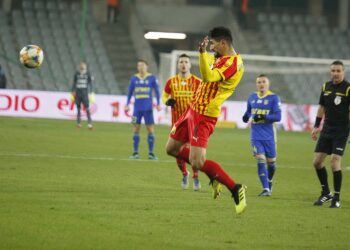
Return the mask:
[[(266, 54), (275, 56), (345, 59), (350, 54), (350, 36), (337, 28), (331, 28), (325, 17), (289, 13), (259, 13), (260, 34), (267, 45)], [(334, 39), (337, 37), (337, 39)], [(322, 41), (322, 42), (320, 42)], [(295, 67), (279, 63), (280, 67)], [(328, 79), (324, 72), (317, 72), (320, 65), (299, 64), (301, 73), (285, 72), (283, 82), (288, 83), (289, 93), (295, 103), (317, 103), (320, 85)]]

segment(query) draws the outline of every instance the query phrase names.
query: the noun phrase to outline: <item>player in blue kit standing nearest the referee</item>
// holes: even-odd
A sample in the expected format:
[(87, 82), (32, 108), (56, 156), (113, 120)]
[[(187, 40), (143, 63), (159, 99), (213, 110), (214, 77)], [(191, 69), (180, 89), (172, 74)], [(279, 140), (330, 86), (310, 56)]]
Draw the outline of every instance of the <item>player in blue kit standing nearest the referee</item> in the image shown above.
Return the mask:
[(278, 95), (269, 90), (270, 81), (266, 75), (257, 77), (256, 88), (257, 92), (248, 98), (243, 121), (251, 123), (251, 145), (263, 187), (259, 196), (271, 196), (272, 178), (276, 170), (277, 137), (274, 123), (281, 120), (281, 101)]

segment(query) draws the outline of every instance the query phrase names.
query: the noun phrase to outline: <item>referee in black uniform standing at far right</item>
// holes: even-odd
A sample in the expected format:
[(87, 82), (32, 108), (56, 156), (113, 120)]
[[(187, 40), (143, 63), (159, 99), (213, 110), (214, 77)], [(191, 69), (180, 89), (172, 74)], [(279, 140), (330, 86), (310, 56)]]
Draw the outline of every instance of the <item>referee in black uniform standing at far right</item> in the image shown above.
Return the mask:
[[(326, 82), (321, 91), (317, 117), (311, 136), (317, 140), (321, 120), (324, 124), (315, 148), (313, 165), (320, 180), (322, 192), (315, 206), (332, 201), (331, 208), (340, 208), (342, 183), (341, 160), (349, 135), (350, 83), (344, 80), (344, 64), (334, 61), (331, 64), (331, 81)], [(334, 195), (330, 192), (324, 161), (331, 155)]]

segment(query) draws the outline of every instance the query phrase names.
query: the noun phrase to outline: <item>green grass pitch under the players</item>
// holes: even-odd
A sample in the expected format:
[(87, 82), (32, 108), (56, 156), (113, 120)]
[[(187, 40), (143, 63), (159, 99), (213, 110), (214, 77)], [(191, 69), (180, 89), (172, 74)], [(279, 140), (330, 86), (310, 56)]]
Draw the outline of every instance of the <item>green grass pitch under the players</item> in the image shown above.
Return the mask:
[[(261, 191), (249, 131), (216, 129), (208, 159), (248, 186), (237, 216), (229, 192), (183, 191), (166, 156), (167, 126), (155, 153), (132, 152), (130, 124), (0, 117), (0, 249), (350, 249), (350, 153), (343, 158), (342, 208), (314, 207), (320, 187), (307, 133), (279, 132), (273, 196)], [(348, 150), (347, 150), (348, 151)], [(329, 182), (333, 178), (327, 161)], [(192, 184), (192, 183), (191, 183)], [(332, 188), (333, 189), (333, 188)]]

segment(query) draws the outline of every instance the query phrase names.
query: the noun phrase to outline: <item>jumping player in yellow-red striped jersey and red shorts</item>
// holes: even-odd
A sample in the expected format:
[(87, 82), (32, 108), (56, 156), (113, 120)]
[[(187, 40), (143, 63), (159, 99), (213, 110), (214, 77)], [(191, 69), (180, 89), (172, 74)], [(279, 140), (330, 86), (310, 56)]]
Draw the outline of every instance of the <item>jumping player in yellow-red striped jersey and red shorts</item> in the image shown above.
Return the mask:
[[(199, 67), (202, 75), (190, 108), (174, 124), (166, 145), (169, 155), (186, 160), (204, 172), (210, 179), (213, 198), (216, 199), (224, 184), (231, 192), (237, 214), (243, 213), (246, 203), (245, 185), (235, 183), (219, 163), (206, 159), (210, 135), (221, 112), (222, 103), (229, 98), (239, 84), (243, 73), (243, 61), (233, 48), (231, 31), (216, 27), (199, 44)], [(215, 57), (206, 51), (215, 52)], [(184, 147), (190, 143), (190, 148)]]

